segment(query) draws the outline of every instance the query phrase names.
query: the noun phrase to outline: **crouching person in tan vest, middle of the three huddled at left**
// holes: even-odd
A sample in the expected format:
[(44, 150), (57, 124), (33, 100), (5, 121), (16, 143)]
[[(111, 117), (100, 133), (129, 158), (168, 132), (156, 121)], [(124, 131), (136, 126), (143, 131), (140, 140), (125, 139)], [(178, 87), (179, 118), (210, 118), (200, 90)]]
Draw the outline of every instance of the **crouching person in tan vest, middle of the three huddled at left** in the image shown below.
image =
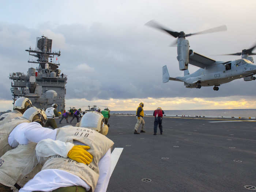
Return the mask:
[[(44, 110), (31, 107), (25, 111), (22, 117), (15, 117), (1, 125), (1, 133), (4, 130), (6, 135), (0, 139), (1, 192), (12, 192), (11, 188), (20, 189), (20, 186), (23, 186), (35, 175), (30, 177), (27, 174), (35, 170), (38, 163), (34, 151), (36, 143), (28, 143), (22, 130), (29, 126), (44, 125), (45, 121), (46, 114)], [(41, 167), (39, 168), (41, 169)]]

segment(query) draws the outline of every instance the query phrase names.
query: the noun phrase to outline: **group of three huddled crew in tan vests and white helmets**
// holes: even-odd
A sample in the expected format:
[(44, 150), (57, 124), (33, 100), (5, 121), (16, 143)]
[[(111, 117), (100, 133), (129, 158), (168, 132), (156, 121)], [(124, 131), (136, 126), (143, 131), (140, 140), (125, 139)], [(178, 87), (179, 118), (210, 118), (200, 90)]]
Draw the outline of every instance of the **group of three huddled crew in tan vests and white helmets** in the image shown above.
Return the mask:
[(46, 119), (25, 97), (0, 116), (0, 191), (106, 191), (114, 143), (103, 115), (87, 112), (76, 127), (57, 129)]

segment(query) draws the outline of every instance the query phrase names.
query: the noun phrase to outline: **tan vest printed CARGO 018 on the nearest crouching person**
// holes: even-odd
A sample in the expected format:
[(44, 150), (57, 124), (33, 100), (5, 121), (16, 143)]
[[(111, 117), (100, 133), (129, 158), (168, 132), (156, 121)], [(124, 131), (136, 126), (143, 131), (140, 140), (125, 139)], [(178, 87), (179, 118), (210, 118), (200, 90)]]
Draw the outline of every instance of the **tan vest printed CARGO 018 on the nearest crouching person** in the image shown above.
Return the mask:
[(72, 126), (59, 128), (57, 130), (56, 140), (70, 143), (73, 143), (73, 140), (77, 140), (90, 146), (91, 148), (87, 151), (93, 155), (93, 161), (89, 165), (86, 165), (69, 158), (61, 157), (60, 155), (54, 155), (45, 162), (42, 170), (60, 169), (74, 174), (90, 185), (93, 192), (99, 178), (99, 159), (113, 146), (114, 143), (112, 140), (93, 129)]

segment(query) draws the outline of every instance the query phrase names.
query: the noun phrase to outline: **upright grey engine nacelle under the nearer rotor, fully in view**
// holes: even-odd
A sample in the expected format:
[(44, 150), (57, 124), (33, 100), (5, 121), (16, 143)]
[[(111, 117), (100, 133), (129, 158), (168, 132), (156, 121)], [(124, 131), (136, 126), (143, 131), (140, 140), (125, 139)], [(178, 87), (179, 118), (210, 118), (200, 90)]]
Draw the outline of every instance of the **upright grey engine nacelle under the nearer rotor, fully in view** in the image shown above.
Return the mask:
[(185, 38), (178, 38), (177, 60), (179, 61), (180, 70), (188, 69), (189, 59), (189, 41)]

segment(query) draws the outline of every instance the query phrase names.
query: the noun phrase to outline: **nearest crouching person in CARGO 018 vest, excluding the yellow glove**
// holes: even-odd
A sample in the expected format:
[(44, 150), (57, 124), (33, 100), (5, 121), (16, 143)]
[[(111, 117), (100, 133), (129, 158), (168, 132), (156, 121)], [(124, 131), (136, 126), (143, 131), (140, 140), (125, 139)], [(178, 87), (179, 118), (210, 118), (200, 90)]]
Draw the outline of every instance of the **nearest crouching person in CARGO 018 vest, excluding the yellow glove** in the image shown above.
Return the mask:
[[(87, 112), (79, 124), (80, 127), (65, 126), (54, 130), (31, 127), (26, 130), (24, 135), (28, 140), (40, 141), (36, 147), (37, 155), (47, 159), (42, 170), (19, 192), (106, 191), (111, 176), (110, 148), (114, 144), (105, 136), (108, 126), (104, 124), (102, 114), (97, 112)], [(89, 165), (67, 158), (67, 151), (74, 145), (85, 144), (93, 155)]]

